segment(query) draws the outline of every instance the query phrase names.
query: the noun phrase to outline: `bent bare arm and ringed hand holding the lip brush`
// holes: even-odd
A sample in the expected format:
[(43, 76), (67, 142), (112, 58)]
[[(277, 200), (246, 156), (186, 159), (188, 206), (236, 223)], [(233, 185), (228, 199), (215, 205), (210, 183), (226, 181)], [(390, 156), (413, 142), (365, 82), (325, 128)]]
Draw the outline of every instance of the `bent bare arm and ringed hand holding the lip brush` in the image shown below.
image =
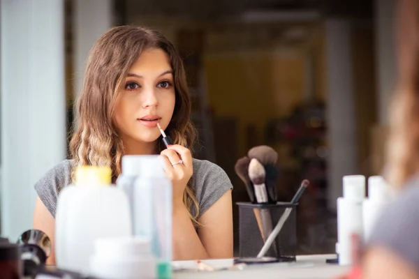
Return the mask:
[[(168, 146), (161, 152), (164, 169), (173, 184), (173, 259), (233, 257), (233, 210), (231, 190), (210, 204), (198, 223), (198, 233), (183, 202), (186, 183), (193, 174), (191, 151)], [(182, 159), (182, 164), (179, 160)], [(211, 181), (214, 186), (216, 181)]]

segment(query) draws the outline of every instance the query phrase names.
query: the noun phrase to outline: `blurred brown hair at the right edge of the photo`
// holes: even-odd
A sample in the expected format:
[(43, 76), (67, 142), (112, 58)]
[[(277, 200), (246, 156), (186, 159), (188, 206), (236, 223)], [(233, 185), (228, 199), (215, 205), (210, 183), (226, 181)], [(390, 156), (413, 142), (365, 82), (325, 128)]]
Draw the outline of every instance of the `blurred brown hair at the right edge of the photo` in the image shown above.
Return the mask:
[(419, 171), (419, 1), (399, 0), (398, 5), (398, 81), (390, 114), (386, 178), (401, 187)]

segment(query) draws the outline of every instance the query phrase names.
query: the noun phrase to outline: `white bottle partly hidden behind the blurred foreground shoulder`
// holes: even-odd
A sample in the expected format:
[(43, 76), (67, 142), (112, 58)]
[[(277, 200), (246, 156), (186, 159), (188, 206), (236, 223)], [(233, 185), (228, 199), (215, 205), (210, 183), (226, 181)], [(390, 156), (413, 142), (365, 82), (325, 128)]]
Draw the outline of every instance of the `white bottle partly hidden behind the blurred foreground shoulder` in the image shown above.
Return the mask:
[(362, 206), (364, 221), (364, 241), (371, 236), (377, 218), (388, 204), (388, 184), (382, 176), (371, 176), (368, 179), (368, 198)]

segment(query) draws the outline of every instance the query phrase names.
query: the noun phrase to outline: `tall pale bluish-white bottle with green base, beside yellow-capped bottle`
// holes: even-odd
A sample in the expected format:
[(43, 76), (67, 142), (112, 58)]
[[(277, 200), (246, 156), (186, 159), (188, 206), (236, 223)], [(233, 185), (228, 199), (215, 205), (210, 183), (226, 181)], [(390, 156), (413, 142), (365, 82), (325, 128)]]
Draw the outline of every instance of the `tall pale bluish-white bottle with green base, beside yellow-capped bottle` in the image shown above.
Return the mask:
[(172, 182), (160, 156), (140, 156), (133, 188), (133, 232), (152, 240), (157, 278), (172, 278)]

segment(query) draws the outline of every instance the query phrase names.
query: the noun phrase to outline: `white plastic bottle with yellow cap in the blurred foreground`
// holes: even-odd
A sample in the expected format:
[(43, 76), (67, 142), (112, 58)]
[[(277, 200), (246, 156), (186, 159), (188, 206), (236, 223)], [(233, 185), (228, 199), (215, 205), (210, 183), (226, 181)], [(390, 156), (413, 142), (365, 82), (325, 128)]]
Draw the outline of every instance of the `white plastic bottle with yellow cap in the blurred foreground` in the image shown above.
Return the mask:
[(87, 272), (94, 241), (131, 236), (131, 212), (125, 193), (111, 184), (109, 167), (76, 169), (75, 186), (64, 188), (57, 204), (57, 265)]

